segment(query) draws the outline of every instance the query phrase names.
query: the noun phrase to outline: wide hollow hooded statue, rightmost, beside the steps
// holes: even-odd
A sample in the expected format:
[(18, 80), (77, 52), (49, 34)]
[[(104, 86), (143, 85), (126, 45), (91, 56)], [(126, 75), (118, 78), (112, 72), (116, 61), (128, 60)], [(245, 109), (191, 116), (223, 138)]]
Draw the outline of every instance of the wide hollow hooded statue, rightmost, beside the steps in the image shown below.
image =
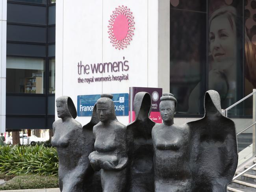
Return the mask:
[(236, 172), (238, 153), (234, 122), (221, 113), (219, 93), (204, 97), (204, 117), (187, 123), (191, 131), (192, 192), (226, 192)]

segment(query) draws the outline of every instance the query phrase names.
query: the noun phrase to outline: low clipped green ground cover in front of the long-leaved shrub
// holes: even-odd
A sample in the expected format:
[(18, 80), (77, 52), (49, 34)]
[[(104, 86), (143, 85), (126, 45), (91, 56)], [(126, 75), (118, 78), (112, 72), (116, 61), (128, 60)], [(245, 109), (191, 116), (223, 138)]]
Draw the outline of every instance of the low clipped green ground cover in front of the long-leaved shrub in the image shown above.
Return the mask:
[(0, 190), (58, 188), (58, 177), (18, 175), (0, 186)]

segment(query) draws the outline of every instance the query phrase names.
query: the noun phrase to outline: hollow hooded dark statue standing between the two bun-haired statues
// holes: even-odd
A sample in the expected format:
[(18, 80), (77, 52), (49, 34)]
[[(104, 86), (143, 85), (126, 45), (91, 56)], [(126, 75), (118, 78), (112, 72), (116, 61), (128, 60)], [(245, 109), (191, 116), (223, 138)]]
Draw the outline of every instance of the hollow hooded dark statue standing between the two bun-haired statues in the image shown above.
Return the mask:
[(128, 192), (154, 192), (153, 144), (151, 131), (155, 122), (148, 118), (151, 97), (138, 92), (134, 97), (135, 120), (127, 126), (129, 159)]

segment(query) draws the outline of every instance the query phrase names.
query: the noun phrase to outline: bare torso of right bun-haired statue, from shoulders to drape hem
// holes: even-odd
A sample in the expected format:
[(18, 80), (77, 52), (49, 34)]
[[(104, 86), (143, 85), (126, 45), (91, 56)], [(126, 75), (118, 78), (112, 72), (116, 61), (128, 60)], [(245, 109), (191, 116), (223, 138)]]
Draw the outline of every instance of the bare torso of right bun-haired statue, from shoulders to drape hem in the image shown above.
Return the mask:
[(189, 177), (189, 130), (175, 124), (152, 129), (155, 174), (159, 178)]

